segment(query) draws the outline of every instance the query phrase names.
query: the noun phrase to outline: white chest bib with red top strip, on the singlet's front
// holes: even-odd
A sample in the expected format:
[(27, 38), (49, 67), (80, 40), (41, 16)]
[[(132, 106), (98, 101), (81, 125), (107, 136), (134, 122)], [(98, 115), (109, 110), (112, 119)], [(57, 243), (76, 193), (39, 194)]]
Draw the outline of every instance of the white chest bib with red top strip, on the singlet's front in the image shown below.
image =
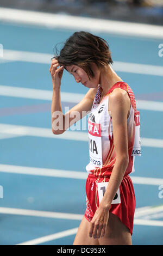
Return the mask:
[(103, 167), (101, 125), (88, 120), (88, 132), (90, 162), (95, 167)]

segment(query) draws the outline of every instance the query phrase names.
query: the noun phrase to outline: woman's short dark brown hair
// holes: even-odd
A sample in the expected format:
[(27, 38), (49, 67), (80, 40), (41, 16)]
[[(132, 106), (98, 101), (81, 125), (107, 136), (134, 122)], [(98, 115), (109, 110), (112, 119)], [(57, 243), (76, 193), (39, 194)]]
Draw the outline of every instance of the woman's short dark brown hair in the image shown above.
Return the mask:
[(108, 42), (84, 31), (73, 33), (66, 40), (60, 54), (53, 58), (57, 59), (62, 66), (77, 65), (91, 77), (94, 76), (91, 63), (95, 63), (98, 68), (113, 63)]

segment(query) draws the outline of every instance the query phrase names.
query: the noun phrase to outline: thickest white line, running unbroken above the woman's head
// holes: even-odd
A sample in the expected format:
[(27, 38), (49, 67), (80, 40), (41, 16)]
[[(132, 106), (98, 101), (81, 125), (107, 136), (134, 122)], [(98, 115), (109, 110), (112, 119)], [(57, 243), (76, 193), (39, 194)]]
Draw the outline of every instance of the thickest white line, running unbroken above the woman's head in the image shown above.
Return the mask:
[(49, 28), (86, 29), (86, 31), (91, 32), (142, 36), (143, 38), (163, 38), (163, 28), (161, 26), (67, 14), (50, 14), (1, 7), (0, 20)]

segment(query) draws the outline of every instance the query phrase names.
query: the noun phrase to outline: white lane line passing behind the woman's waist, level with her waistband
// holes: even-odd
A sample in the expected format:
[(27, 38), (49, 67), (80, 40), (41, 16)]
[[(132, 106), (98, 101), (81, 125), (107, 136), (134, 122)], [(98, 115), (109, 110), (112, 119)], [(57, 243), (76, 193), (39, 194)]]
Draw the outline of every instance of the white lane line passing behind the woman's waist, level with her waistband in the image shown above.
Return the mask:
[[(39, 175), (39, 176), (47, 176), (47, 177), (49, 176), (49, 177), (58, 177), (58, 178), (69, 178), (69, 179), (82, 179), (82, 180), (85, 180), (87, 178), (86, 171), (76, 172), (73, 170), (13, 166), (10, 164), (0, 164), (0, 172)], [(161, 178), (148, 178), (148, 177), (132, 176), (132, 175), (130, 175), (130, 178), (134, 184), (155, 185), (155, 186), (163, 185), (163, 179)]]

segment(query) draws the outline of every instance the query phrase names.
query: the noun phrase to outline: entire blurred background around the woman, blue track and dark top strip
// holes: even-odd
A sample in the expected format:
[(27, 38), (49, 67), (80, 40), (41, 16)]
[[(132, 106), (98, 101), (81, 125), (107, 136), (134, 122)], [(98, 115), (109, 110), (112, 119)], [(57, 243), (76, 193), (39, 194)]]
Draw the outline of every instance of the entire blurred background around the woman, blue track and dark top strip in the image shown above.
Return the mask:
[[(84, 214), (87, 133), (51, 131), (51, 58), (77, 30), (108, 41), (135, 93), (142, 156), (131, 174), (133, 245), (163, 244), (162, 25), (161, 0), (0, 0), (1, 245), (72, 245)], [(63, 111), (86, 92), (64, 72)]]

